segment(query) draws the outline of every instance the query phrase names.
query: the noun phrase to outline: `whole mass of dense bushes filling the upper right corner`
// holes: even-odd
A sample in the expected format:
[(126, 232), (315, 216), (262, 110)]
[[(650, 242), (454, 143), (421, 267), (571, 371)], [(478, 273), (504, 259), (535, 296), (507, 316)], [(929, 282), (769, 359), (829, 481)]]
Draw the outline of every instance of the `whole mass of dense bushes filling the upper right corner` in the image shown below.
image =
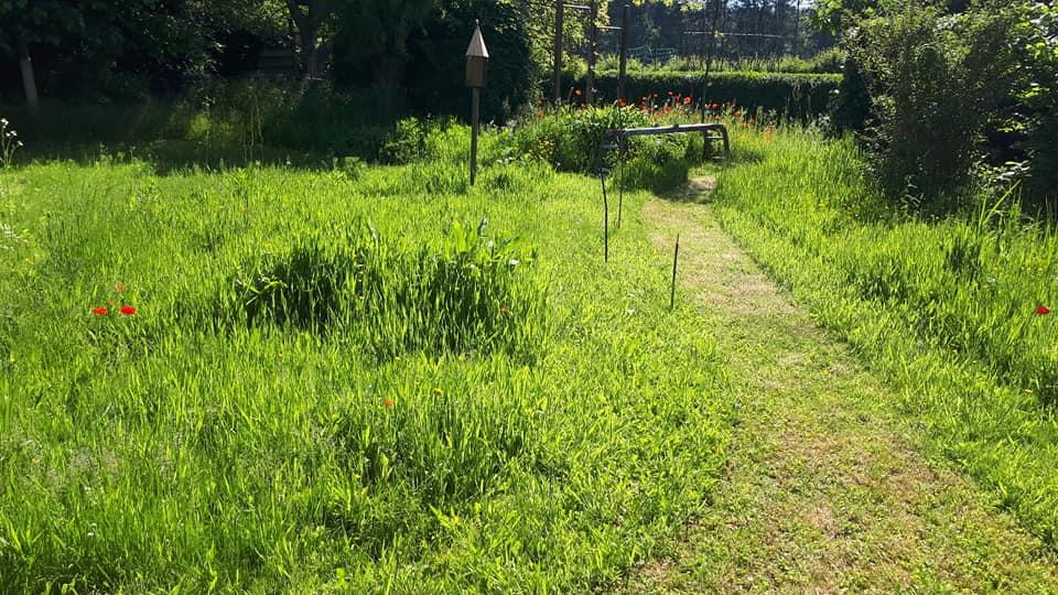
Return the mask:
[(1037, 207), (1056, 196), (1058, 10), (908, 2), (849, 23), (831, 119), (857, 133), (890, 198), (949, 208), (1019, 182)]

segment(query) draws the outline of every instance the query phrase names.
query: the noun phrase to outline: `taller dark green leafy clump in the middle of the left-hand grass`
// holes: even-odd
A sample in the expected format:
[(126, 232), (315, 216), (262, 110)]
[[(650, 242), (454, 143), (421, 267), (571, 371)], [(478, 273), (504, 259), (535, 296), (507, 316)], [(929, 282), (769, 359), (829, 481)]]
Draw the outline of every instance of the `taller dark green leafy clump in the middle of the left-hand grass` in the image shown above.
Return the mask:
[[(228, 315), (321, 334), (352, 333), (380, 357), (407, 351), (529, 355), (543, 294), (535, 252), (455, 224), (440, 246), (402, 247), (368, 226), (302, 238), (234, 281)], [(233, 309), (235, 309), (233, 311)]]

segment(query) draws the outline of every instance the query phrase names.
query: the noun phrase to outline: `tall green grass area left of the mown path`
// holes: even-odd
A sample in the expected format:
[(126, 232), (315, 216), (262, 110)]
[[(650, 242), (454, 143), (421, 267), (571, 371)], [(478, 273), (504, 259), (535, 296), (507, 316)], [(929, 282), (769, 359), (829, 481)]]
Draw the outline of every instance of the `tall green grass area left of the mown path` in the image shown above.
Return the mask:
[(604, 266), (597, 181), (505, 134), (473, 188), (457, 127), (401, 166), (0, 171), (0, 591), (587, 591), (659, 553), (724, 463), (720, 356), (647, 195)]

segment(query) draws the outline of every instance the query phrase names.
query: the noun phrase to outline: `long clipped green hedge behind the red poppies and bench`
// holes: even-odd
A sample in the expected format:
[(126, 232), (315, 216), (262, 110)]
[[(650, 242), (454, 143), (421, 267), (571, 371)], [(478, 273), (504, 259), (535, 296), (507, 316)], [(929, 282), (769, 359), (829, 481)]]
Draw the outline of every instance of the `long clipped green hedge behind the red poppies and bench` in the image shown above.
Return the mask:
[[(629, 102), (641, 97), (669, 91), (690, 95), (695, 99), (702, 94), (703, 73), (654, 72), (628, 73), (626, 87)], [(712, 73), (706, 100), (722, 104), (734, 101), (742, 108), (764, 108), (794, 118), (813, 118), (827, 112), (832, 91), (841, 83), (839, 74), (779, 74), (779, 73)], [(566, 74), (563, 77), (563, 94), (584, 88), (584, 76)], [(595, 77), (600, 100), (617, 98), (617, 73), (602, 72)]]

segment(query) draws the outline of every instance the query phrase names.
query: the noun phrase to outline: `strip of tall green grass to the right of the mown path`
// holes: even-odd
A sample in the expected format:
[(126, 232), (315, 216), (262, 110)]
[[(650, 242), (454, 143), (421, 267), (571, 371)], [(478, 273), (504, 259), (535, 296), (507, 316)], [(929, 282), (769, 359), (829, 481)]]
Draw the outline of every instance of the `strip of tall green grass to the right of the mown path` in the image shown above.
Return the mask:
[(1013, 196), (920, 218), (877, 198), (850, 141), (736, 140), (725, 227), (902, 387), (941, 450), (1051, 542), (1058, 530), (1058, 231)]

